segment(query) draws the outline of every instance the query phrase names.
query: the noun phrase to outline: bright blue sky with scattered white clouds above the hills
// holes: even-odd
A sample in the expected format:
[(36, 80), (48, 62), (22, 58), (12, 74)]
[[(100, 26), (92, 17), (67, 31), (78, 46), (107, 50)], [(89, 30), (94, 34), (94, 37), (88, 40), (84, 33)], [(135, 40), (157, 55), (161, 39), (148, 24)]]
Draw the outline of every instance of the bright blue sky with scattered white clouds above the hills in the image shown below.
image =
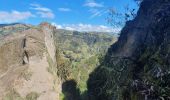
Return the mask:
[(78, 31), (118, 31), (106, 18), (108, 9), (137, 8), (133, 0), (0, 0), (0, 24), (47, 21), (57, 28)]

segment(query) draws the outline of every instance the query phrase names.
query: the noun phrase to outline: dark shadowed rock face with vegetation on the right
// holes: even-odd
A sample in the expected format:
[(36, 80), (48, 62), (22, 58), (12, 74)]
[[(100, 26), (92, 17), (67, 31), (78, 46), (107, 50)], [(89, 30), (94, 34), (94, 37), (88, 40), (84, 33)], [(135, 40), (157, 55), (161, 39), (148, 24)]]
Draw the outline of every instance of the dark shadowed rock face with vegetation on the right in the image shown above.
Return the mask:
[(169, 100), (169, 39), (170, 1), (143, 0), (90, 75), (90, 100)]

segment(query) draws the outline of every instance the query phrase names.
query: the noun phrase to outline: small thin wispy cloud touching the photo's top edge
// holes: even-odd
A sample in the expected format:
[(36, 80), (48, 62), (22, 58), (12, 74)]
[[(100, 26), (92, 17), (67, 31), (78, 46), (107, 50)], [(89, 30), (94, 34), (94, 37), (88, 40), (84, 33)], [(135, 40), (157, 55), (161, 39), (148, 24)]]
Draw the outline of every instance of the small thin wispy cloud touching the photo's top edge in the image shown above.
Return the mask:
[(103, 4), (97, 3), (94, 0), (87, 0), (86, 3), (84, 4), (84, 6), (91, 7), (91, 8), (94, 8), (94, 7), (96, 7), (96, 8), (104, 7)]

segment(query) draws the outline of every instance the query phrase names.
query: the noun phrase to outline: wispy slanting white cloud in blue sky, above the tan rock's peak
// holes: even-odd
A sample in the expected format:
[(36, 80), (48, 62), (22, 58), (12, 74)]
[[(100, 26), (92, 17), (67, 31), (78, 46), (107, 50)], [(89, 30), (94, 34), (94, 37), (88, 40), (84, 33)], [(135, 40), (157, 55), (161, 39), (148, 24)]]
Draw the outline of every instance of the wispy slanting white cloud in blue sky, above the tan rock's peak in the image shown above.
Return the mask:
[(36, 10), (37, 14), (40, 15), (42, 18), (55, 18), (53, 11), (49, 8), (43, 7), (39, 4), (30, 4), (30, 9)]

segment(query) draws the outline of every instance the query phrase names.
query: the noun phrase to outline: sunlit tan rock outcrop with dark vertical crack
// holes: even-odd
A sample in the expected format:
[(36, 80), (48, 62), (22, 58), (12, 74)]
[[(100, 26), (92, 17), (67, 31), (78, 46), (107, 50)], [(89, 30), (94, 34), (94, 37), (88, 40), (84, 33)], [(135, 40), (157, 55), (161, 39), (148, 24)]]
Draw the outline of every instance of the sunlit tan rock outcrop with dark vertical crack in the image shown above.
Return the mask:
[(37, 93), (39, 100), (58, 99), (59, 93), (53, 89), (54, 79), (47, 70), (49, 58), (53, 60), (53, 66), (56, 65), (55, 27), (42, 23), (37, 27), (14, 24), (0, 28), (3, 33), (11, 30), (0, 38), (0, 100), (9, 100), (5, 94), (10, 94), (11, 90), (15, 90), (20, 98)]

